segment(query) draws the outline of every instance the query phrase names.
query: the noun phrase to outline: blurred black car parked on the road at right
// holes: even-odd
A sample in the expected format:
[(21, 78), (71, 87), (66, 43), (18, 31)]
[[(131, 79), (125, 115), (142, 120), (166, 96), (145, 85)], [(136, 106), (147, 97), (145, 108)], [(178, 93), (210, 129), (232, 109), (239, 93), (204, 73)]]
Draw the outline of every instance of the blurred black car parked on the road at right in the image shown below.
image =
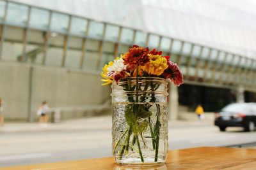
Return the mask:
[(244, 131), (254, 131), (256, 103), (228, 104), (219, 113), (215, 113), (214, 124), (220, 131), (226, 131), (227, 127), (244, 127)]

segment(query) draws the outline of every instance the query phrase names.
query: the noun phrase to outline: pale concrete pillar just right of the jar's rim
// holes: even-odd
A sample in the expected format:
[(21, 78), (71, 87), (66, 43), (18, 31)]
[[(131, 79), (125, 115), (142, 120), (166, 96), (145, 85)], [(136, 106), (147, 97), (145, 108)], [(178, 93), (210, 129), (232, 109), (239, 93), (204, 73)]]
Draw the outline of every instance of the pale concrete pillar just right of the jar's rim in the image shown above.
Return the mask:
[(173, 85), (173, 83), (169, 83), (168, 111), (169, 111), (169, 119), (170, 120), (177, 120), (178, 119), (179, 93), (178, 93), (178, 87)]

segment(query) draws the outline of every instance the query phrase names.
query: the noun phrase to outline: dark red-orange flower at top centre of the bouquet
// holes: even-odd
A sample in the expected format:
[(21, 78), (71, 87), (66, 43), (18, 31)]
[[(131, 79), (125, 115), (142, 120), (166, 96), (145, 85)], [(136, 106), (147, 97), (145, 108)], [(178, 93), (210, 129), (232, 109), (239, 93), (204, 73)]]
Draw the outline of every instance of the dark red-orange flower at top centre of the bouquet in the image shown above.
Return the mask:
[(123, 55), (125, 65), (129, 66), (144, 66), (148, 61), (148, 48), (139, 47), (134, 45), (129, 49), (129, 52)]

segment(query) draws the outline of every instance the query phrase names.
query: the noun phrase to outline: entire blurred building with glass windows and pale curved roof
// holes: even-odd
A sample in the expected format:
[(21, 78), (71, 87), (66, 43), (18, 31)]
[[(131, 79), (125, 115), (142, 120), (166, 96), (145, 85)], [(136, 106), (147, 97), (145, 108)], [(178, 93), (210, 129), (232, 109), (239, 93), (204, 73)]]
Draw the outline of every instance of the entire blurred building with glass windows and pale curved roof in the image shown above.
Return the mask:
[(100, 69), (133, 44), (172, 55), (182, 69), (185, 84), (170, 86), (173, 114), (256, 101), (255, 9), (253, 0), (0, 0), (6, 118), (33, 120), (44, 100), (106, 103)]

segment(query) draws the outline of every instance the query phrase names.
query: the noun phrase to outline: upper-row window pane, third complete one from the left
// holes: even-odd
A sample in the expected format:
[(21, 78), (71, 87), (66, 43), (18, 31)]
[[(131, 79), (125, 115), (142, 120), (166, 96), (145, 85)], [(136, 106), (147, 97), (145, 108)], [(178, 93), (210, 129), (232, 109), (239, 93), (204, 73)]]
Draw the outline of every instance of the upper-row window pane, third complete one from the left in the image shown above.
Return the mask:
[(68, 15), (62, 13), (52, 13), (51, 30), (57, 32), (67, 32)]

